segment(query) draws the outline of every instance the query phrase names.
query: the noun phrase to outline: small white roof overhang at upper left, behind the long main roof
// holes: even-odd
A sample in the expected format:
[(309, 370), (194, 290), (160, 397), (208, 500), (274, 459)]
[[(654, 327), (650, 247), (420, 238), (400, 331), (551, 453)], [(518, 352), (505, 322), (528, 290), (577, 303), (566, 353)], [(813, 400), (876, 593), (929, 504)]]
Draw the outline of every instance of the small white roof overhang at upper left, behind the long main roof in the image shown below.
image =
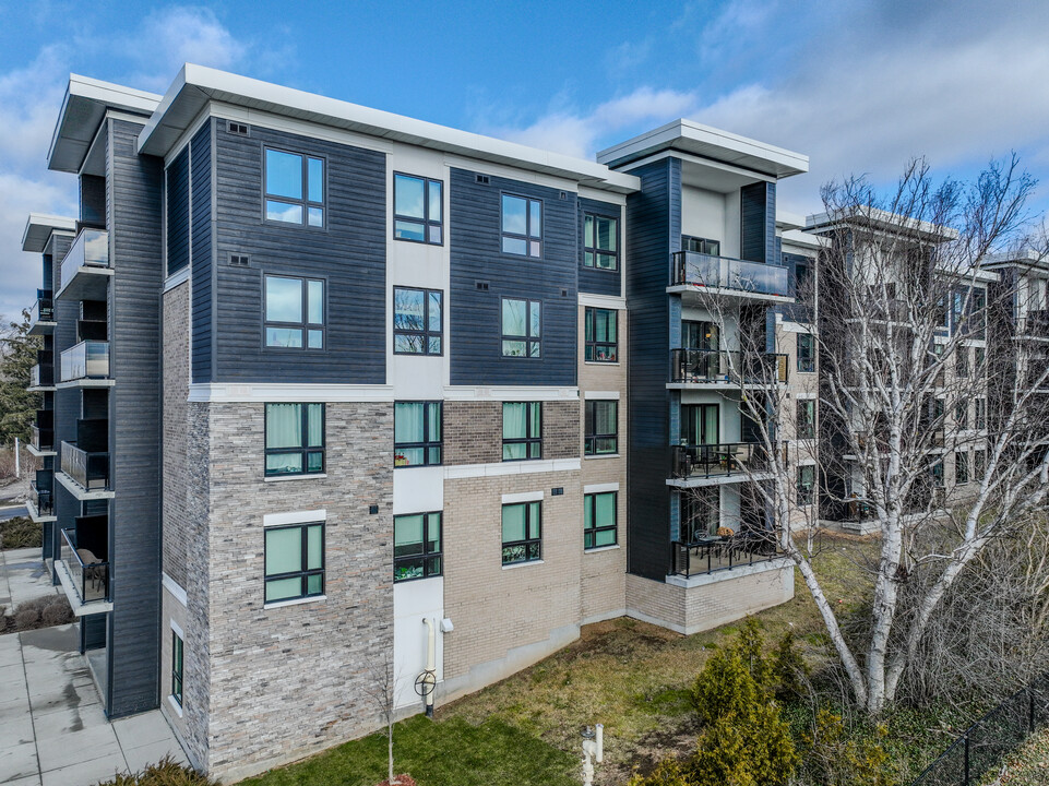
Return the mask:
[(79, 172), (107, 109), (150, 116), (160, 96), (123, 85), (70, 74), (62, 109), (47, 152), (47, 167)]

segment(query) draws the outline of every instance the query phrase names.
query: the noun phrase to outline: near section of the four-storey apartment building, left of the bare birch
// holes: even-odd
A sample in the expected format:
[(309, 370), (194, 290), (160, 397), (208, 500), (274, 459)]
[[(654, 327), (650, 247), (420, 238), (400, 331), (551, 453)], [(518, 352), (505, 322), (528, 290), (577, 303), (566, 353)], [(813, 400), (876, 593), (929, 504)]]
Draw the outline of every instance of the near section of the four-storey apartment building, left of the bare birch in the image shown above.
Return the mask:
[(376, 728), (386, 668), (407, 714), (791, 597), (754, 485), (816, 501), (804, 156), (678, 121), (595, 163), (187, 64), (71, 78), (49, 166), (34, 517), (110, 717), (233, 778)]

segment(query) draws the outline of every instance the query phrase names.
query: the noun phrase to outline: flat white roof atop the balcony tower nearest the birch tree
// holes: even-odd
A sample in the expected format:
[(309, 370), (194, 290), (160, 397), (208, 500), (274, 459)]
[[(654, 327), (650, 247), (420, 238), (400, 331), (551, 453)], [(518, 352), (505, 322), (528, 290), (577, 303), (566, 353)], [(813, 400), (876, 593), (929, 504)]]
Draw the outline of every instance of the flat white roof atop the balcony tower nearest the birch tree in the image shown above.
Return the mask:
[(809, 171), (809, 156), (683, 118), (597, 154), (610, 167), (625, 166), (664, 151), (690, 153), (775, 178)]

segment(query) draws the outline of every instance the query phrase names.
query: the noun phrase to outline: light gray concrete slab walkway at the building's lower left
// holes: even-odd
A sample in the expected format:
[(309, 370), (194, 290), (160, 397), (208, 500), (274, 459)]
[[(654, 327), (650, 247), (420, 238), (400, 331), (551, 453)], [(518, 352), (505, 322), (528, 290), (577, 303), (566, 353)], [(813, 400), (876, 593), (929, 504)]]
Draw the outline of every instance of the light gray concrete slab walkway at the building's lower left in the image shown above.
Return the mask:
[[(4, 585), (21, 585), (23, 565), (5, 560)], [(78, 643), (75, 624), (0, 635), (0, 784), (92, 786), (166, 754), (186, 761), (158, 710), (106, 720)]]

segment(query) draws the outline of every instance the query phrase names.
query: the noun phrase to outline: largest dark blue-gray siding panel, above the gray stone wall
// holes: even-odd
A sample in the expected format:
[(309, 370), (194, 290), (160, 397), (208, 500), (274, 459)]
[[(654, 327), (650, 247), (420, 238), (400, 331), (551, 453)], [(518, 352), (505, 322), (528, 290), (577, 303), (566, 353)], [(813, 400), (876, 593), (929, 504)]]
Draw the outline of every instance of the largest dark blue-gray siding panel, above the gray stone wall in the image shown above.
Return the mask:
[[(250, 136), (230, 134), (224, 120), (214, 139), (214, 380), (384, 383), (385, 156), (259, 127)], [(324, 229), (263, 222), (265, 145), (325, 158)], [(230, 253), (249, 254), (250, 266), (230, 266)], [(264, 273), (326, 279), (324, 350), (263, 347)]]

